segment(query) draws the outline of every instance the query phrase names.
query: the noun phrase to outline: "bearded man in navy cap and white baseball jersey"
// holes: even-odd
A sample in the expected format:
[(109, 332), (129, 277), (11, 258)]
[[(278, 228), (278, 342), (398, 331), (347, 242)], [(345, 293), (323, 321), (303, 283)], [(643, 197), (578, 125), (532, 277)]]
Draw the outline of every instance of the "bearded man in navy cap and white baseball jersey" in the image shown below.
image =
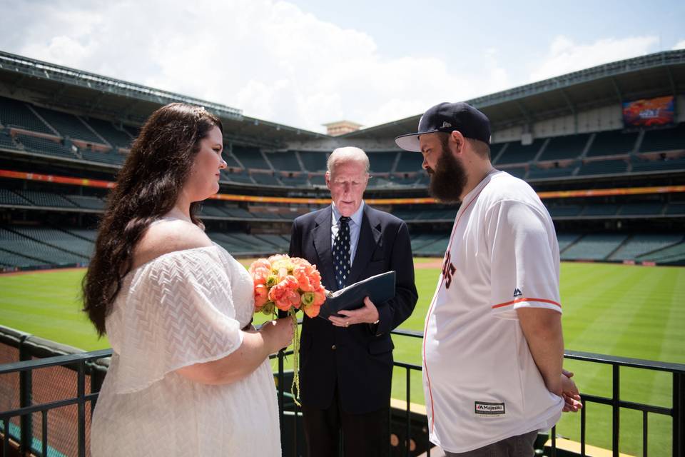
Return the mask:
[(579, 407), (562, 370), (552, 219), (527, 183), (492, 167), (477, 109), (433, 106), (418, 130), (397, 145), (423, 155), (436, 199), (461, 204), (425, 318), (430, 440), (447, 456), (530, 457), (537, 432)]

